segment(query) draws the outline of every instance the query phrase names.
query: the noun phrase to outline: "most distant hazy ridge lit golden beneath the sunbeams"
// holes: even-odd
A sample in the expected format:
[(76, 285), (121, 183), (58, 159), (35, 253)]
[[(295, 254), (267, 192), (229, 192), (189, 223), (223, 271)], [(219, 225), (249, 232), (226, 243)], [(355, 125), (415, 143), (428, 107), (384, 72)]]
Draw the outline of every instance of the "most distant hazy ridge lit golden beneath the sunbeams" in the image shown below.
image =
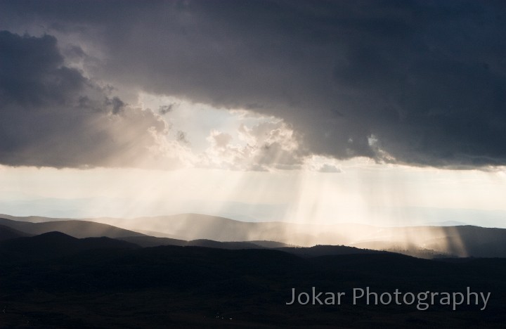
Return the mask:
[[(204, 214), (138, 219), (104, 219), (108, 224), (144, 229), (180, 240), (223, 242), (271, 240), (290, 245), (349, 245), (392, 250), (417, 257), (506, 257), (506, 229), (477, 226), (377, 227), (362, 224), (313, 225), (234, 221)], [(458, 223), (458, 221), (455, 221)], [(446, 223), (450, 224), (450, 223)]]

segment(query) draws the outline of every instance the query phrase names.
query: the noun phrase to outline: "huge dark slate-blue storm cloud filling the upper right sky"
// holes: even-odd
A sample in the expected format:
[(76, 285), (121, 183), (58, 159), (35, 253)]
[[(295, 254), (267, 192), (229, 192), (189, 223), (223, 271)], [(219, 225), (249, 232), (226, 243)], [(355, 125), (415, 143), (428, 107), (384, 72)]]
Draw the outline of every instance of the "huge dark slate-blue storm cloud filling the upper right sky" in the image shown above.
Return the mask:
[[(42, 22), (100, 48), (105, 56), (90, 71), (94, 77), (282, 117), (304, 138), (307, 153), (436, 167), (506, 164), (504, 1), (4, 1), (0, 7), (16, 28)], [(47, 36), (29, 40), (56, 43)], [(23, 78), (2, 98), (52, 102), (86, 84), (58, 66), (55, 49), (48, 51), (22, 68)], [(24, 78), (48, 76), (40, 70), (69, 84), (53, 91), (58, 79)], [(33, 84), (42, 88), (24, 95)]]

